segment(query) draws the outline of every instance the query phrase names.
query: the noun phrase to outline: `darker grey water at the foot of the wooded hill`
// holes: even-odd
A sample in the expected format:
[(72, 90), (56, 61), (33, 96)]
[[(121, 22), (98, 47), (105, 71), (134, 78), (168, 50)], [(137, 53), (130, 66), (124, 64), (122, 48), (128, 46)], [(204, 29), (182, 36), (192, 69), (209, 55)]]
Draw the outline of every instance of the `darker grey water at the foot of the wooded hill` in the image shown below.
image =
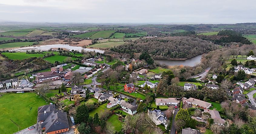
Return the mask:
[(186, 60), (155, 60), (159, 64), (166, 64), (167, 66), (190, 66), (193, 67), (201, 62), (202, 55), (186, 59)]

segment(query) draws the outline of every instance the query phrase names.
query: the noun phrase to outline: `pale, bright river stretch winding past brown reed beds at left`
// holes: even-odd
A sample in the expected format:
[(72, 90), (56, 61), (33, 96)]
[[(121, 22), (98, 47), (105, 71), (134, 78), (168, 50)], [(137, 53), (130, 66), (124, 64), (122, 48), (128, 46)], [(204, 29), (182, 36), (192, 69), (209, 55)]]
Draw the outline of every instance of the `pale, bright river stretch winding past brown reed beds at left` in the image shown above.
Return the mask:
[(82, 48), (80, 46), (70, 46), (68, 44), (55, 44), (55, 45), (42, 45), (42, 46), (32, 46), (32, 47), (25, 47), (25, 48), (15, 48), (9, 51), (27, 51), (27, 50), (42, 50), (42, 51), (48, 51), (51, 48), (66, 48), (68, 50), (77, 50), (80, 51), (83, 49), (85, 51), (95, 51), (99, 53), (104, 53), (103, 50), (99, 49), (91, 49), (91, 48)]

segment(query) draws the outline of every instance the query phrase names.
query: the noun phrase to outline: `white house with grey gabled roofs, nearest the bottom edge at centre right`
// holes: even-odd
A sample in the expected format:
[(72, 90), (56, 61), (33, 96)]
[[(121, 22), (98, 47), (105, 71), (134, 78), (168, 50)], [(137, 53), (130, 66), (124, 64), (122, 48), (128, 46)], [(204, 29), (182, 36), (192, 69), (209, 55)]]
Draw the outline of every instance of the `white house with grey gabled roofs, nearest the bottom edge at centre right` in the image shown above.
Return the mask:
[(161, 112), (161, 110), (148, 110), (148, 117), (155, 123), (155, 125), (163, 124), (165, 127), (168, 126), (167, 117), (164, 112)]

